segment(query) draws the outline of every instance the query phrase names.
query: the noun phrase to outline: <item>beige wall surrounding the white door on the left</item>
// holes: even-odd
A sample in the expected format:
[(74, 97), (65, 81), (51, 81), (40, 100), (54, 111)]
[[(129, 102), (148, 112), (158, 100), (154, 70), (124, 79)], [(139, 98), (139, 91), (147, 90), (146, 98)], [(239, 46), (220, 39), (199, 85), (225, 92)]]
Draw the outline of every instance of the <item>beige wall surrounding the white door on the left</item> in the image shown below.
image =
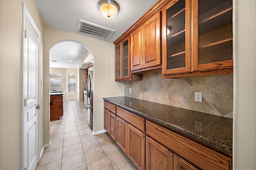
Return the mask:
[[(44, 25), (34, 0), (0, 0), (0, 169), (21, 169), (21, 41), (22, 2), (42, 35)], [(41, 51), (41, 70), (43, 68)], [(43, 71), (41, 71), (41, 79)], [(41, 86), (41, 94), (43, 88)], [(43, 95), (41, 103), (43, 105)], [(40, 110), (43, 125), (44, 109)], [(40, 149), (43, 147), (43, 128), (40, 129)]]

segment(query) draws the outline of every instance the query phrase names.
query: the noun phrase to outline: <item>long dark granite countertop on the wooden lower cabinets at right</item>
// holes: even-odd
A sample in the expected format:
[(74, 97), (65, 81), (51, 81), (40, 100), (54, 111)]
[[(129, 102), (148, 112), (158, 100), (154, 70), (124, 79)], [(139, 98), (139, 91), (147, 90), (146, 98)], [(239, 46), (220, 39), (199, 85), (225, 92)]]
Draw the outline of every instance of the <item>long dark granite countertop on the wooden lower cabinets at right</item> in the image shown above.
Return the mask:
[(233, 119), (125, 96), (103, 99), (232, 154)]

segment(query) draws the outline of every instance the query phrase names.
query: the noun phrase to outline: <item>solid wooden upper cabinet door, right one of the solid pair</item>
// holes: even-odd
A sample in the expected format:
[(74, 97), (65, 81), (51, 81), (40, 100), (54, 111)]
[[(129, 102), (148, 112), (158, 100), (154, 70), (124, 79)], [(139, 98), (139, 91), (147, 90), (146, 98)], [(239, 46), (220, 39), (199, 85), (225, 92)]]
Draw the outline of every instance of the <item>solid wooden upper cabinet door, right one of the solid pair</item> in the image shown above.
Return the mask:
[(160, 57), (160, 12), (143, 24), (144, 54), (143, 68), (161, 64)]

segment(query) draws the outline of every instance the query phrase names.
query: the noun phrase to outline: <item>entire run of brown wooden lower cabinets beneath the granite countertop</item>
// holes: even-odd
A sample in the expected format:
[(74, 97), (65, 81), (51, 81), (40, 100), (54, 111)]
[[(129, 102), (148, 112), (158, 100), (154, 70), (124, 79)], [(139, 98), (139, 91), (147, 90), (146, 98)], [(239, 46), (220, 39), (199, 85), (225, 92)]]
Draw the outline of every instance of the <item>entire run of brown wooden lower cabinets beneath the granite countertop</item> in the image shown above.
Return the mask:
[(104, 128), (138, 170), (232, 170), (232, 158), (220, 152), (120, 107), (104, 107)]

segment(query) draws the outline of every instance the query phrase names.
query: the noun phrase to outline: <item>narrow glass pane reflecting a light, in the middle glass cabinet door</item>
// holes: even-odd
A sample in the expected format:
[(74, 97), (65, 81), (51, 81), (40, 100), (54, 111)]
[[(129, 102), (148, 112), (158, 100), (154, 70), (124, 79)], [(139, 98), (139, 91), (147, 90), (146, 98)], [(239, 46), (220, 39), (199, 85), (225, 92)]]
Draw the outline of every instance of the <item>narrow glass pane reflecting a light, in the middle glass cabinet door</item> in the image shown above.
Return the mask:
[(185, 67), (185, 0), (167, 10), (167, 69)]

